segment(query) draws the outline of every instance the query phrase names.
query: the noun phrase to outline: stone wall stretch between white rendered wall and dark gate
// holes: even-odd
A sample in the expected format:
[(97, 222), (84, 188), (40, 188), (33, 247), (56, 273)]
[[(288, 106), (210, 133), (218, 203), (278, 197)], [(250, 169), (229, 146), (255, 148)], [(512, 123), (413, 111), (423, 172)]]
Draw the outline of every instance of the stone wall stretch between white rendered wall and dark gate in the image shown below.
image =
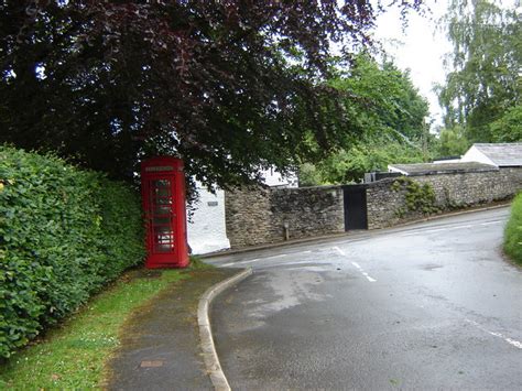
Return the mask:
[(340, 186), (246, 188), (225, 194), (232, 248), (345, 231)]

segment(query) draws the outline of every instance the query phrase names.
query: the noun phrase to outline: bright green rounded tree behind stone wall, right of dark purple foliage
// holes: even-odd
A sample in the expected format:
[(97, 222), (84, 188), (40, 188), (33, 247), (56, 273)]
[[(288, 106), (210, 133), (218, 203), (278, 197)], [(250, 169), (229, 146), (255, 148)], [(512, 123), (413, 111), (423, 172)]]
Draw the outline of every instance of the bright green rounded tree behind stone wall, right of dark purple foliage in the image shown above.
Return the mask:
[(360, 132), (341, 128), (345, 138), (340, 148), (314, 165), (302, 167), (302, 185), (359, 182), (365, 173), (387, 170), (390, 163), (424, 160), (421, 142), (427, 137), (424, 118), (428, 104), (407, 72), (361, 54), (349, 72), (337, 75), (330, 85), (351, 97), (341, 104)]

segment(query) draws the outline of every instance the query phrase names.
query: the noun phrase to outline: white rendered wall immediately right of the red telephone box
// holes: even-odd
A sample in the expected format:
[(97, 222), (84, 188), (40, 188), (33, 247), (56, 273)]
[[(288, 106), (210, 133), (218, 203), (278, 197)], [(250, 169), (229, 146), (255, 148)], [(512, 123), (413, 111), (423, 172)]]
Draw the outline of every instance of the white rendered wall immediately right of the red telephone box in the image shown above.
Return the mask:
[(194, 254), (229, 249), (225, 226), (225, 192), (216, 195), (198, 185), (199, 200), (195, 204), (192, 222), (187, 224), (188, 245)]

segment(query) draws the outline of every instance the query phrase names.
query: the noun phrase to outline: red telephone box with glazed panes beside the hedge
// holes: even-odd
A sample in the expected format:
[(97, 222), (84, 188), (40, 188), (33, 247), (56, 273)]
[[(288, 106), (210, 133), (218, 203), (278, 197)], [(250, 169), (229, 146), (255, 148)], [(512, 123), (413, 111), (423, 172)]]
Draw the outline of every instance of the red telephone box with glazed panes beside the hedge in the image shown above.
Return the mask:
[(188, 264), (183, 161), (160, 156), (141, 163), (141, 192), (146, 227), (145, 267)]

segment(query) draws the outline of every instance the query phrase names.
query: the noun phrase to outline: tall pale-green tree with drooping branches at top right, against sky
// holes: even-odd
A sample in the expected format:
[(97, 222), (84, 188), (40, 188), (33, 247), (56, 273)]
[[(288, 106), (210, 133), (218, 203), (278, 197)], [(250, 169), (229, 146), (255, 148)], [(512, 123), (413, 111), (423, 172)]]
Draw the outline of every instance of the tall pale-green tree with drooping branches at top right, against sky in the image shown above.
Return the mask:
[(520, 105), (520, 9), (494, 0), (453, 0), (445, 17), (454, 51), (452, 72), (439, 89), (445, 124), (465, 126), (471, 141), (493, 141), (490, 124)]

